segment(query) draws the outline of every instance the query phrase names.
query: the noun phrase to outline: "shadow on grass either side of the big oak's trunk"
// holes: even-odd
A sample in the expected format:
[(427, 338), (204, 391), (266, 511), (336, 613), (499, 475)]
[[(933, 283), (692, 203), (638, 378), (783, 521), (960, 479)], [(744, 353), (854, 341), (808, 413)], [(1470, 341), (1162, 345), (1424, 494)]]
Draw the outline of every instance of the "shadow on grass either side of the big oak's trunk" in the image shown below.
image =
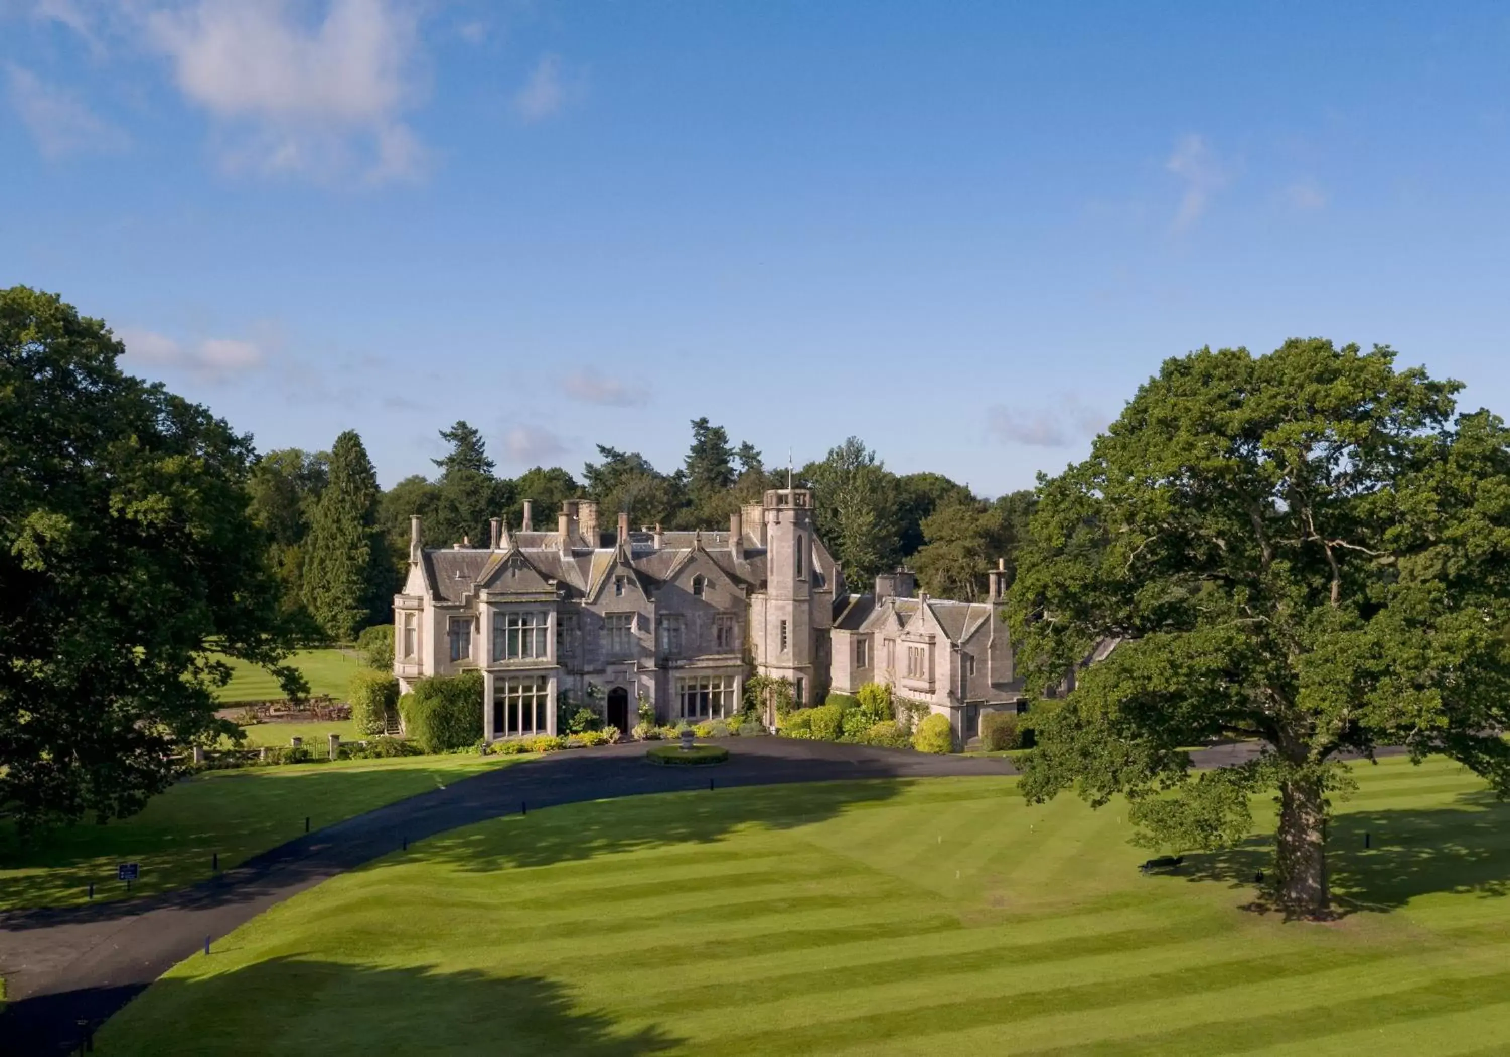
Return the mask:
[[(1342, 914), (1395, 911), (1418, 895), (1510, 895), (1510, 803), (1487, 791), (1465, 793), (1462, 806), (1345, 812), (1327, 832), (1327, 871)], [(1365, 847), (1367, 835), (1367, 847)], [(1273, 840), (1185, 855), (1191, 882), (1256, 889), (1273, 868)], [(1262, 900), (1255, 909), (1264, 909)]]

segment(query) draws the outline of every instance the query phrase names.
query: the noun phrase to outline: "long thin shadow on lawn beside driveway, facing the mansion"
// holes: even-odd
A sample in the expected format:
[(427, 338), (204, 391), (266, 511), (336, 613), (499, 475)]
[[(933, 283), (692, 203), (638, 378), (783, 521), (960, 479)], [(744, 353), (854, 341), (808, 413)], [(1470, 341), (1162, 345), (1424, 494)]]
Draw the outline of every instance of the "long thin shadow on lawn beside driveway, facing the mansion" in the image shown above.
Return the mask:
[(527, 814), (501, 829), (441, 834), (417, 858), (467, 871), (547, 867), (624, 852), (713, 844), (741, 826), (791, 829), (895, 797), (909, 781), (818, 782), (800, 787), (705, 788), (648, 800), (628, 797), (590, 811)]

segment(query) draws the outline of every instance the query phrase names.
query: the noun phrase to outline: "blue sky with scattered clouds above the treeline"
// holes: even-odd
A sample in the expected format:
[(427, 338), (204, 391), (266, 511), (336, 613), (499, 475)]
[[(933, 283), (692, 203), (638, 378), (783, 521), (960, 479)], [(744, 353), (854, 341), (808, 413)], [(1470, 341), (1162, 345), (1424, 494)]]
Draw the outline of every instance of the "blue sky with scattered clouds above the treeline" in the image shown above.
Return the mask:
[(1504, 5), (0, 0), (0, 285), (384, 483), (708, 415), (997, 494), (1288, 335), (1510, 412)]

